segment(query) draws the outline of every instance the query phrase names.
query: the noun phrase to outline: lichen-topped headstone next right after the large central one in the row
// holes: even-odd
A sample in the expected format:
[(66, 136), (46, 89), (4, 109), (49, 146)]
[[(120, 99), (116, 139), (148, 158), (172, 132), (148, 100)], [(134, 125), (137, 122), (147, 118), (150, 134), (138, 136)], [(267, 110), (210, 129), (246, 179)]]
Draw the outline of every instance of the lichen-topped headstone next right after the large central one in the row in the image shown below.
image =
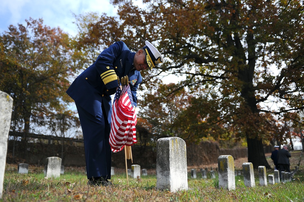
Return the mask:
[(218, 160), (219, 188), (235, 190), (234, 160), (231, 155), (221, 155)]

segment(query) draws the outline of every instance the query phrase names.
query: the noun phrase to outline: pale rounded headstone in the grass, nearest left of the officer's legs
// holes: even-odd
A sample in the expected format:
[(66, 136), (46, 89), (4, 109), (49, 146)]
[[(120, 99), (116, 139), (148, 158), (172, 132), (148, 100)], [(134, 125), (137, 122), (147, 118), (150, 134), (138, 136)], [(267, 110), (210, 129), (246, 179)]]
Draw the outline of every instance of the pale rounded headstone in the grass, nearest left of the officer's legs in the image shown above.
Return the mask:
[(60, 177), (61, 158), (48, 157), (46, 158), (46, 165), (44, 167), (44, 177)]

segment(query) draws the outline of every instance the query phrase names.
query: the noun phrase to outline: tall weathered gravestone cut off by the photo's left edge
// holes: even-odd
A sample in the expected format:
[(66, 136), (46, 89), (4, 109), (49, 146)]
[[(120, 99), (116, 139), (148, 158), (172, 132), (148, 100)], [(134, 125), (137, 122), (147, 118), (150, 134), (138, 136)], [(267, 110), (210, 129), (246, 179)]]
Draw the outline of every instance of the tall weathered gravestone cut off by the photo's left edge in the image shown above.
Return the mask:
[(7, 153), (7, 140), (11, 126), (13, 99), (0, 91), (0, 199), (3, 192), (3, 180)]

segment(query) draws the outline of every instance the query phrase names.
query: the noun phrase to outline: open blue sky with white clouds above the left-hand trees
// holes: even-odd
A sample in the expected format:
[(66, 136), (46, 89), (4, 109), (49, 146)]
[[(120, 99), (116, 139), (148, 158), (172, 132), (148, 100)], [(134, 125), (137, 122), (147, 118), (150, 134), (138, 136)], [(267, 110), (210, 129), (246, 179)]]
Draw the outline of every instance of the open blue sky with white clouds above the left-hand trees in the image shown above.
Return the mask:
[(86, 12), (116, 15), (117, 8), (109, 0), (1, 0), (0, 33), (9, 25), (25, 24), (25, 19), (43, 19), (43, 24), (51, 28), (60, 27), (64, 32), (75, 35), (77, 32), (73, 13)]

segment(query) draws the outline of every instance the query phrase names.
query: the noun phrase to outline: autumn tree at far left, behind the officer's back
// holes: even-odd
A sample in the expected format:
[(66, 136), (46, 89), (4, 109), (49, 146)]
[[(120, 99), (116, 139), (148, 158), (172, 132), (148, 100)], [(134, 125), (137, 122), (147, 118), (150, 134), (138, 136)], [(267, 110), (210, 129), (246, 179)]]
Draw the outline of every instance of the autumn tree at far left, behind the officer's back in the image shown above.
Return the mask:
[(69, 121), (79, 125), (65, 93), (69, 77), (78, 69), (66, 33), (30, 18), (25, 26), (10, 25), (1, 33), (0, 49), (0, 90), (14, 100), (13, 132), (23, 132), (27, 143), (28, 133), (41, 133), (36, 126), (46, 132), (62, 122), (56, 114), (69, 116)]

